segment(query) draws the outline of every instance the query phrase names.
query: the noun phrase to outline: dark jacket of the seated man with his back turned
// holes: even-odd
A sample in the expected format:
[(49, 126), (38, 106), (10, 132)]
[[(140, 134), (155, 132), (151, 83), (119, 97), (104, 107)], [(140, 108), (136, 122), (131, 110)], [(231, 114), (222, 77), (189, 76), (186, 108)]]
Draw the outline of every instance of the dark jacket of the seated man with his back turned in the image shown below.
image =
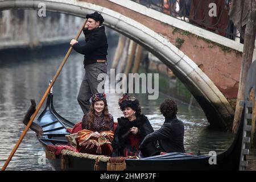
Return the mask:
[(184, 124), (179, 119), (166, 118), (159, 130), (148, 134), (141, 143), (142, 148), (148, 142), (158, 140), (160, 150), (163, 152), (185, 152), (184, 150)]

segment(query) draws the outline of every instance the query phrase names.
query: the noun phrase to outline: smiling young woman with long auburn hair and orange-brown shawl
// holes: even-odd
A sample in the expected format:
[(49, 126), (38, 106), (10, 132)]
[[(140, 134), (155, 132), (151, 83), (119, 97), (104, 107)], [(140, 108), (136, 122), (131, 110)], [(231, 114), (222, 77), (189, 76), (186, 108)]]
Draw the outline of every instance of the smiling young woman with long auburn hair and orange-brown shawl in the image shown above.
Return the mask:
[(105, 93), (94, 94), (90, 111), (84, 114), (82, 130), (78, 133), (79, 152), (111, 156), (113, 125), (113, 116), (109, 114)]

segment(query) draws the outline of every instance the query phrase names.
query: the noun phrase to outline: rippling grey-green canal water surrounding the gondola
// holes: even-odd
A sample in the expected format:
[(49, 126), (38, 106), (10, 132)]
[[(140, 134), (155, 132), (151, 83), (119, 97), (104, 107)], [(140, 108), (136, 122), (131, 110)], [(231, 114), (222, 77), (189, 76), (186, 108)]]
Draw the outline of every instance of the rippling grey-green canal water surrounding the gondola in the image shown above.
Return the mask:
[[(38, 104), (47, 89), (48, 82), (55, 75), (65, 52), (65, 46), (55, 46), (34, 51), (27, 49), (5, 51), (0, 53), (0, 166), (9, 156), (20, 134), (24, 130), (22, 119), (34, 98)], [(113, 59), (115, 44), (109, 48), (109, 60)], [(82, 110), (77, 103), (77, 93), (84, 76), (83, 56), (75, 51), (69, 57), (63, 71), (53, 86), (53, 104), (55, 110), (72, 122), (82, 119)], [(111, 61), (109, 65), (111, 65)], [(121, 94), (107, 94), (109, 111), (114, 120), (122, 116), (118, 109), (118, 98)], [(159, 94), (158, 100), (147, 100), (146, 94), (137, 94), (142, 113), (151, 122), (154, 129), (159, 129), (164, 118), (160, 114), (159, 105), (167, 98)], [(172, 96), (175, 99), (175, 96)], [(232, 134), (226, 131), (210, 130), (203, 111), (197, 107), (188, 109), (188, 105), (177, 101), (177, 117), (184, 121), (186, 152), (217, 154), (227, 150), (232, 143)], [(42, 112), (44, 106), (39, 111)], [(7, 170), (51, 170), (49, 163), (42, 163), (43, 148), (33, 131), (28, 131), (20, 147), (16, 151)]]

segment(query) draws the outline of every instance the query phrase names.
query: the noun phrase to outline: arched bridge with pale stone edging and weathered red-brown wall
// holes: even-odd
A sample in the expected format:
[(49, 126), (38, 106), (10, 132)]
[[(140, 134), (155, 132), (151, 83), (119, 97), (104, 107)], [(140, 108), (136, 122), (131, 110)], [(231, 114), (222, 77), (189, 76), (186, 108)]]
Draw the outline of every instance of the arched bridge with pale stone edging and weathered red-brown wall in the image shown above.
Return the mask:
[(39, 3), (47, 11), (82, 18), (100, 12), (105, 26), (141, 44), (172, 69), (212, 126), (232, 126), (242, 44), (129, 0), (0, 0), (0, 10), (39, 9)]

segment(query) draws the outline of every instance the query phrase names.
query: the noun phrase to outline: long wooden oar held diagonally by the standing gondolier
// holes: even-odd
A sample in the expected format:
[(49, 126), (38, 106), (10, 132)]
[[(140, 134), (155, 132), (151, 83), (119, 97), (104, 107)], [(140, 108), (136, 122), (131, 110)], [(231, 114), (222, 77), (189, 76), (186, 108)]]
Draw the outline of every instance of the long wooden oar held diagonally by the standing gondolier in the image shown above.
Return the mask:
[[(78, 34), (76, 35), (76, 38), (75, 38), (76, 40), (79, 38), (79, 36), (80, 36), (80, 34), (81, 34), (81, 32), (82, 32), (82, 29), (84, 28), (86, 22), (87, 22), (87, 19), (85, 19), (84, 24), (82, 24), (82, 27), (80, 28)], [(28, 129), (29, 129), (30, 126), (32, 125), (32, 122), (34, 121), (36, 115), (38, 114), (38, 111), (39, 111), (40, 108), (42, 107), (42, 105), (43, 105), (43, 103), (44, 103), (44, 100), (46, 100), (46, 97), (47, 97), (49, 91), (51, 90), (51, 88), (52, 88), (54, 82), (56, 81), (57, 77), (60, 75), (61, 69), (64, 67), (64, 64), (66, 63), (66, 61), (67, 61), (67, 59), (68, 59), (68, 56), (70, 55), (71, 51), (72, 51), (72, 46), (69, 47), (68, 52), (66, 53), (66, 55), (65, 55), (65, 57), (64, 57), (64, 59), (63, 59), (63, 61), (62, 61), (62, 63), (60, 64), (59, 69), (57, 70), (55, 76), (52, 78), (51, 84), (49, 84), (49, 86), (48, 86), (46, 92), (44, 93), (43, 98), (42, 98), (41, 101), (39, 102), (38, 107), (37, 107), (36, 110), (35, 110), (35, 113), (34, 113), (34, 114), (32, 115), (32, 117), (30, 118), (30, 121), (28, 122), (28, 124), (27, 124), (26, 128), (24, 129), (22, 135), (19, 137), (18, 142), (15, 144), (15, 147), (13, 148), (13, 151), (11, 151), (11, 154), (9, 155), (9, 158), (6, 160), (5, 164), (3, 165), (2, 171), (4, 171), (4, 170), (6, 169), (6, 167), (8, 166), (8, 164), (9, 164), (11, 158), (13, 158), (13, 155), (15, 154), (16, 150), (17, 150), (18, 147), (19, 147), (19, 144), (22, 142), (22, 140), (23, 140), (23, 138), (25, 137), (25, 135), (26, 135)]]

